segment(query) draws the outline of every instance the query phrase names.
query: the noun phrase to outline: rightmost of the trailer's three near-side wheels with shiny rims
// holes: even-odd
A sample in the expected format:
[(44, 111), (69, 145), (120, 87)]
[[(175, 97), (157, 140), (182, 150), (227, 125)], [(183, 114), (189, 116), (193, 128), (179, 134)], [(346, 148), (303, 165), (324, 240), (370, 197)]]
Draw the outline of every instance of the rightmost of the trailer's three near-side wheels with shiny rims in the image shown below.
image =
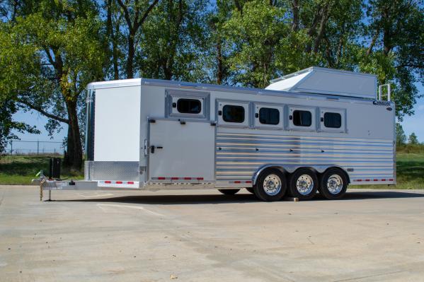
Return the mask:
[(324, 198), (328, 200), (341, 199), (345, 196), (346, 189), (348, 189), (348, 177), (340, 168), (329, 168), (321, 175), (319, 193)]

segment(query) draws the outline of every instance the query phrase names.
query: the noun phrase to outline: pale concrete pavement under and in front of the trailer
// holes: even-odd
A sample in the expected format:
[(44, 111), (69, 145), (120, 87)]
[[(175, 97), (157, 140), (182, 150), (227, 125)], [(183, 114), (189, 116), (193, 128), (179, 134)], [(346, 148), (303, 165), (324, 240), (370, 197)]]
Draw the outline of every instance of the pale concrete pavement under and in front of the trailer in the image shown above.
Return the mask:
[(0, 186), (0, 281), (424, 281), (424, 190), (340, 201)]

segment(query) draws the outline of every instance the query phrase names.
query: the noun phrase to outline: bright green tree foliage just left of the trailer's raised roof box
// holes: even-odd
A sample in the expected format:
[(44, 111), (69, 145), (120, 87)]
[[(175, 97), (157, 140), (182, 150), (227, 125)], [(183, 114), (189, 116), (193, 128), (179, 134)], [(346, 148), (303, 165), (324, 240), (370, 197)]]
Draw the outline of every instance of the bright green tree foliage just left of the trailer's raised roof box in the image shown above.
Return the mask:
[(290, 33), (290, 25), (283, 20), (285, 12), (269, 1), (247, 1), (243, 6), (236, 1), (236, 8), (224, 23), (224, 33), (234, 46), (228, 59), (234, 83), (265, 88), (279, 73), (275, 50), (280, 39)]

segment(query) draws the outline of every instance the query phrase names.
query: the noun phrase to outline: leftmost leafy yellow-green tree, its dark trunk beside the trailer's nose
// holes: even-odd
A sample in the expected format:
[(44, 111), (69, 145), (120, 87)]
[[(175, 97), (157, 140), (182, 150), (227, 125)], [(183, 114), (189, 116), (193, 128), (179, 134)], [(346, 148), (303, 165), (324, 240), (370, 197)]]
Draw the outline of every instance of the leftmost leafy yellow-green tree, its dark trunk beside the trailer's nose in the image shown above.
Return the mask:
[(84, 89), (103, 77), (102, 22), (93, 1), (25, 1), (16, 20), (1, 25), (0, 88), (21, 108), (67, 124), (67, 162), (81, 168)]

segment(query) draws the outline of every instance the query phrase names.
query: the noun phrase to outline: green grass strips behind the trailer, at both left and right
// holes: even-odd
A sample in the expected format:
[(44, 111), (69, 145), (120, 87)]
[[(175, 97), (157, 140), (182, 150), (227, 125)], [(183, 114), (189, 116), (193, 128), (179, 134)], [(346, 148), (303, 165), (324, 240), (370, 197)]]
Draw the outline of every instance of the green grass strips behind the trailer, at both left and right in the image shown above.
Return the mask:
[[(48, 172), (48, 156), (6, 155), (0, 159), (0, 184), (31, 183), (40, 170)], [(396, 155), (397, 184), (396, 189), (424, 189), (424, 152), (403, 153)], [(62, 168), (62, 178), (79, 180), (84, 178), (82, 171)], [(386, 185), (355, 185), (352, 188), (381, 188)], [(395, 188), (395, 187), (391, 187)]]

